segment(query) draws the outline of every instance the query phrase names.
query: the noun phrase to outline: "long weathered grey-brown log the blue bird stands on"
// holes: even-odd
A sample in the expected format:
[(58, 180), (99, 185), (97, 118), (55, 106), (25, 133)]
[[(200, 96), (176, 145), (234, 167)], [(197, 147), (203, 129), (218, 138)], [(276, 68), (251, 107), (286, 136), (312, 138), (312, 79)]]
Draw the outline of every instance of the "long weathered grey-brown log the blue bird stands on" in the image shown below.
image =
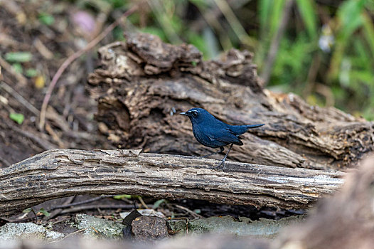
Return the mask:
[(140, 150), (52, 149), (0, 169), (0, 216), (79, 194), (139, 194), (308, 208), (343, 183), (339, 171), (287, 169)]

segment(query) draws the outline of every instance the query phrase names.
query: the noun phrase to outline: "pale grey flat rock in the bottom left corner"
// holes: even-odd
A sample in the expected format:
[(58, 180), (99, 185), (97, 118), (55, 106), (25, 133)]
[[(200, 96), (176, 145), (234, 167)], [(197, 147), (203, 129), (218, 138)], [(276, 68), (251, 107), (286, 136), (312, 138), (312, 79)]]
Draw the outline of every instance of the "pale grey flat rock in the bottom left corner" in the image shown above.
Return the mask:
[(57, 240), (64, 236), (35, 223), (6, 223), (0, 227), (0, 240)]

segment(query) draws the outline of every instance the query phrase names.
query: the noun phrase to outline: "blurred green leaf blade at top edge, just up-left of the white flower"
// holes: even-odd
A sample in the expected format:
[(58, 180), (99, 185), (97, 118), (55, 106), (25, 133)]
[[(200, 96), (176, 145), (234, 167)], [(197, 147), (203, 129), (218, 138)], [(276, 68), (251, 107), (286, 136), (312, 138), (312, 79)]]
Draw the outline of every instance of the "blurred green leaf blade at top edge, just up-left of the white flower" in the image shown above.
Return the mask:
[(317, 36), (317, 21), (316, 21), (316, 7), (314, 1), (311, 0), (296, 0), (299, 7), (301, 18), (304, 21), (306, 30), (311, 38)]

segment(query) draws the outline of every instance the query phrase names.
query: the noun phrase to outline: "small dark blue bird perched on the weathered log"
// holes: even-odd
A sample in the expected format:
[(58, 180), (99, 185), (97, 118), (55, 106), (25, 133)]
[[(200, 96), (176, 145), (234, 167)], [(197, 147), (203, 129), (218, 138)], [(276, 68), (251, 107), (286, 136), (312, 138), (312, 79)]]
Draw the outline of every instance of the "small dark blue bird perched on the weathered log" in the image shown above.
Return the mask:
[[(223, 152), (224, 146), (231, 144), (228, 152), (233, 147), (233, 144), (243, 145), (240, 134), (247, 132), (248, 129), (262, 127), (265, 124), (245, 124), (245, 125), (230, 125), (220, 120), (217, 120), (207, 110), (202, 108), (192, 108), (187, 112), (181, 112), (181, 115), (186, 115), (190, 118), (192, 123), (193, 135), (199, 143), (210, 148), (220, 148), (218, 152), (210, 153), (204, 157), (209, 157), (213, 154)], [(218, 167), (225, 164), (228, 153), (225, 154)]]

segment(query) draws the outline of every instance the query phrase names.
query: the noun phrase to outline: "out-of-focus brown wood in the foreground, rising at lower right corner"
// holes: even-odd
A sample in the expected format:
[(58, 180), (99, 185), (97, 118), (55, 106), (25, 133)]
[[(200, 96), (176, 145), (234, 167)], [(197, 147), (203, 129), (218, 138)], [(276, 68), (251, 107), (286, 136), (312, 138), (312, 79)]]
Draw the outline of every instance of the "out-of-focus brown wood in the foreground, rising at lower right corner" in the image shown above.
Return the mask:
[[(140, 156), (141, 154), (139, 154)], [(288, 170), (288, 169), (287, 169)], [(289, 169), (291, 170), (291, 169)], [(304, 170), (304, 169), (302, 169)], [(321, 201), (298, 226), (282, 231), (274, 240), (229, 235), (176, 237), (151, 243), (113, 243), (102, 240), (63, 240), (59, 243), (0, 243), (0, 248), (373, 248), (374, 155), (359, 169), (346, 174), (346, 183), (333, 196)], [(53, 246), (51, 246), (53, 245)], [(57, 246), (57, 247), (56, 247)]]

